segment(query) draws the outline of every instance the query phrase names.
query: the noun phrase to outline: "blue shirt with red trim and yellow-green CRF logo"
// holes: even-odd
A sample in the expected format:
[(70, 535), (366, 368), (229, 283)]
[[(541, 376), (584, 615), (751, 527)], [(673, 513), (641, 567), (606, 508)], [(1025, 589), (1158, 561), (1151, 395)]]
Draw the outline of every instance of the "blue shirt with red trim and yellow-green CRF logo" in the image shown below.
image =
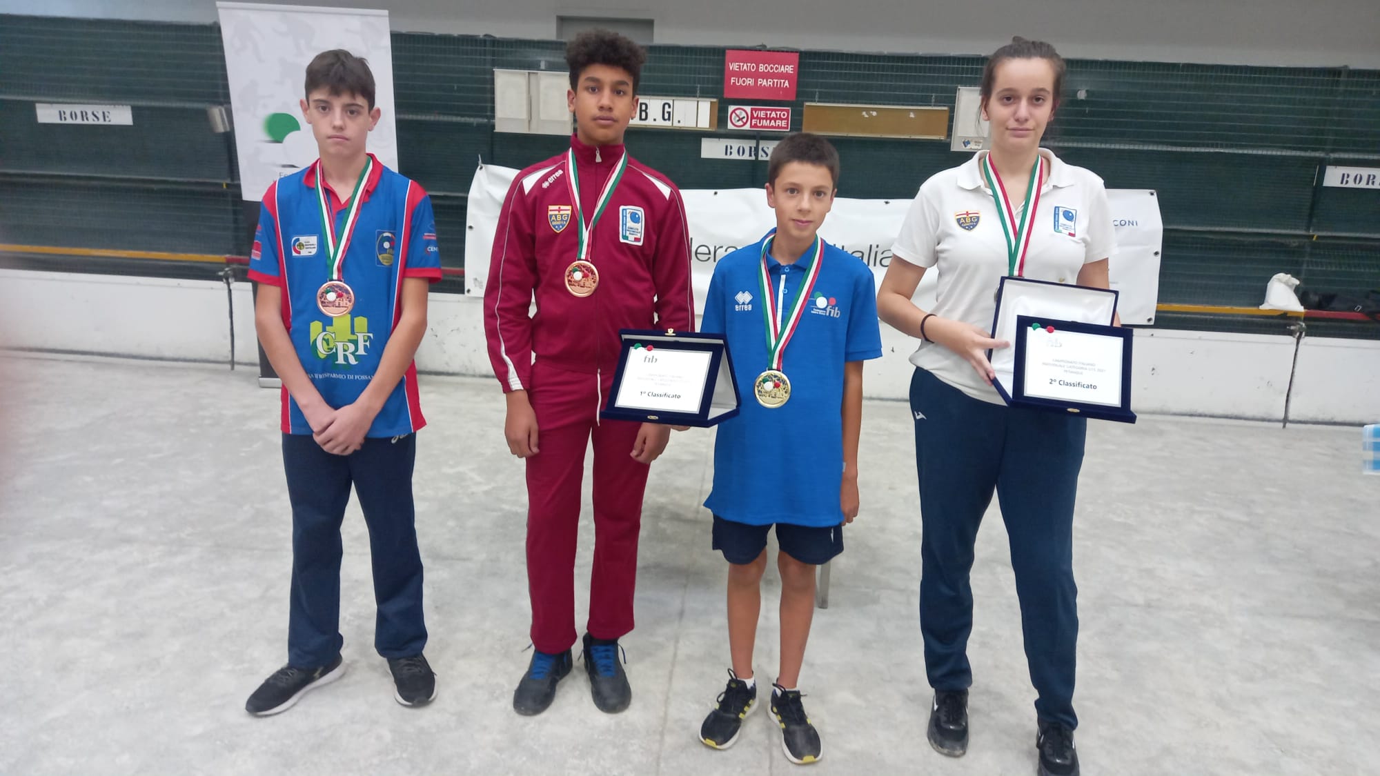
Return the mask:
[[(316, 164), (268, 188), (250, 251), (250, 278), (283, 290), (283, 326), (297, 358), (326, 403), (337, 409), (359, 399), (378, 370), (388, 337), (402, 316), (403, 278), (440, 280), (436, 217), (426, 192), (374, 159), (360, 196), (359, 220), (341, 269), (355, 291), (349, 315), (333, 319), (316, 305), (316, 291), (330, 279)], [(348, 208), (330, 188), (327, 202), (339, 235)], [(408, 365), (367, 436), (400, 436), (425, 424), (417, 395), (417, 366)], [(287, 388), (283, 388), (282, 427), (284, 434), (312, 432)]]

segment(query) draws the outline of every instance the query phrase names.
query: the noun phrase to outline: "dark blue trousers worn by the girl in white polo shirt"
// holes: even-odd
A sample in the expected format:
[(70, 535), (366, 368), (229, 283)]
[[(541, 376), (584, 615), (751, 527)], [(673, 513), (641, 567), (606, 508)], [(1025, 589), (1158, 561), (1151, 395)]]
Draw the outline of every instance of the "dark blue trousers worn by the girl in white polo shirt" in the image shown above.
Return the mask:
[(969, 570), (995, 490), (1016, 572), (1025, 660), (1039, 693), (1035, 712), (1076, 728), (1074, 498), (1087, 420), (981, 402), (923, 369), (911, 378), (911, 414), (923, 526), (920, 632), (930, 685), (960, 690), (973, 683)]

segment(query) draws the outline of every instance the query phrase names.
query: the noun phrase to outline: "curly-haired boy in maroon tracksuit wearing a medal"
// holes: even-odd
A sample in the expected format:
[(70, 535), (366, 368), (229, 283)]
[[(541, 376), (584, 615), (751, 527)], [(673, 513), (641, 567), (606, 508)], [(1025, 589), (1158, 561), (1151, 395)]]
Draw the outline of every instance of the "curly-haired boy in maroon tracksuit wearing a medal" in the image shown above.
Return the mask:
[(524, 715), (551, 706), (573, 666), (575, 533), (591, 436), (595, 559), (585, 670), (602, 711), (622, 711), (632, 700), (618, 638), (633, 624), (647, 465), (665, 449), (669, 428), (600, 421), (599, 409), (613, 385), (620, 329), (694, 327), (680, 192), (622, 146), (644, 59), (642, 47), (606, 30), (570, 43), (570, 149), (518, 174), (494, 235), (484, 334), (508, 399), (508, 447), (527, 461), (534, 652), (513, 693), (513, 708)]

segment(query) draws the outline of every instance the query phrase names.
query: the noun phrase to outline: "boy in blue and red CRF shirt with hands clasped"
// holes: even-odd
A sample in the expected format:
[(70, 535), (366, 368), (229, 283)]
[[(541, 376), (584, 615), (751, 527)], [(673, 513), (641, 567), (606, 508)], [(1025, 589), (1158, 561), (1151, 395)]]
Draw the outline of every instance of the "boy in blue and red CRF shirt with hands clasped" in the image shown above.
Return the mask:
[(348, 51), (306, 66), (302, 115), (320, 159), (264, 195), (250, 278), (255, 326), (283, 380), (283, 468), (293, 504), (287, 666), (244, 704), (286, 711), (344, 672), (341, 522), (359, 496), (374, 572), (374, 648), (393, 697), (422, 706), (436, 677), (422, 646), (422, 561), (413, 511), (422, 418), (413, 355), (440, 279), (426, 192), (366, 152), (379, 119), (368, 64)]

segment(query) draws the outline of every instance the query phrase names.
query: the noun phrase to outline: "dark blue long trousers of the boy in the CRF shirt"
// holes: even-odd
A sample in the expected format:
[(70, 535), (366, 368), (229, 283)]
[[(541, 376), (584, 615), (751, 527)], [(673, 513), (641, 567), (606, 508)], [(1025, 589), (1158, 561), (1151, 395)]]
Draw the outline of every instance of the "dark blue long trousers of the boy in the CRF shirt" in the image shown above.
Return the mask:
[(413, 511), (417, 435), (366, 439), (349, 456), (333, 456), (310, 435), (283, 435), (283, 468), (293, 503), (293, 603), (287, 661), (324, 666), (339, 654), (341, 523), (351, 485), (368, 526), (374, 569), (374, 648), (408, 657), (426, 646), (422, 621), (422, 558)]

